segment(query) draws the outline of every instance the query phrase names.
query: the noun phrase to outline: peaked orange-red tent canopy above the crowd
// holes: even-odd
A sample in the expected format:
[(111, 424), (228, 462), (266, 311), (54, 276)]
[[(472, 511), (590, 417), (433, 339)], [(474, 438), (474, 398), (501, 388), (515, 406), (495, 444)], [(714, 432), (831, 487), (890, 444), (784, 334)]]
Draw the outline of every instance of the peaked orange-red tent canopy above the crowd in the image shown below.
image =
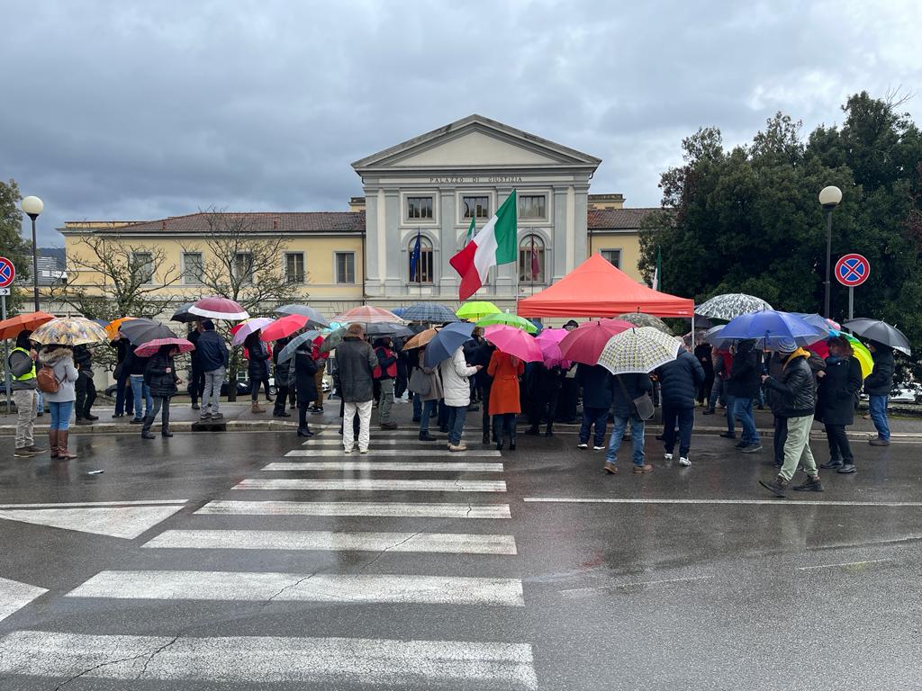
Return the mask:
[(613, 317), (636, 311), (691, 317), (694, 300), (642, 286), (601, 254), (593, 254), (553, 286), (518, 303), (523, 317)]

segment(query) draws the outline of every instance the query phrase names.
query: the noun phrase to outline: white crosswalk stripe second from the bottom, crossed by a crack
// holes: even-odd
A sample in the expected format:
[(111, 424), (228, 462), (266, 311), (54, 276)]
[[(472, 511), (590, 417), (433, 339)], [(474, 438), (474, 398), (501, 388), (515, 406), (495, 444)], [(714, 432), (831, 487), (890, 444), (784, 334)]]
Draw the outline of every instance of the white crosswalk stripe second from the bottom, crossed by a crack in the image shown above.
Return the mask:
[(517, 579), (239, 571), (102, 571), (66, 597), (525, 605)]

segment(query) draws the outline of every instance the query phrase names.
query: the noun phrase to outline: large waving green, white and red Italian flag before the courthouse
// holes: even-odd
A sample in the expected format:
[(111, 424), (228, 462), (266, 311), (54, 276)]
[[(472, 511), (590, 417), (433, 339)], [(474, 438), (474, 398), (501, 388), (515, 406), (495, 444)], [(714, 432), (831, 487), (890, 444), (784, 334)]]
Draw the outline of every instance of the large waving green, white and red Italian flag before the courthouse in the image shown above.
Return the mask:
[(487, 225), (480, 228), (474, 239), (451, 258), (449, 264), (461, 276), (458, 298), (466, 300), (487, 282), (491, 266), (515, 262), (515, 242), (518, 233), (518, 205), (515, 191), (496, 210)]

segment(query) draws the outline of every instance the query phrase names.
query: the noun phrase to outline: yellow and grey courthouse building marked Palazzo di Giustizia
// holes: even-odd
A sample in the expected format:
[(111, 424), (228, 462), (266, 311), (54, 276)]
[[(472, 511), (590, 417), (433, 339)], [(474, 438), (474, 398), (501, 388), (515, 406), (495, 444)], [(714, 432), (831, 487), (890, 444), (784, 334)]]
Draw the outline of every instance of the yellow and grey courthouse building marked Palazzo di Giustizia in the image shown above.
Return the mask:
[[(653, 209), (624, 208), (621, 194), (589, 194), (601, 159), (509, 125), (471, 115), (390, 146), (352, 164), (362, 196), (349, 211), (234, 214), (254, 234), (280, 235), (287, 247), (278, 266), (303, 299), (327, 313), (362, 303), (397, 307), (435, 300), (457, 305), (459, 276), (449, 260), (464, 245), (473, 218), (481, 228), (516, 191), (518, 261), (491, 271), (475, 299), (513, 307), (602, 252), (640, 281), (638, 230)], [(164, 298), (202, 292), (196, 266), (208, 230), (207, 214), (141, 222), (67, 222), (68, 280), (98, 284), (80, 270), (88, 235), (122, 242), (134, 252), (167, 257), (152, 285)], [(411, 263), (416, 242), (420, 261)], [(82, 259), (81, 259), (82, 258)], [(143, 260), (143, 256), (141, 257)], [(173, 264), (174, 263), (174, 264)], [(258, 280), (258, 275), (254, 276)]]

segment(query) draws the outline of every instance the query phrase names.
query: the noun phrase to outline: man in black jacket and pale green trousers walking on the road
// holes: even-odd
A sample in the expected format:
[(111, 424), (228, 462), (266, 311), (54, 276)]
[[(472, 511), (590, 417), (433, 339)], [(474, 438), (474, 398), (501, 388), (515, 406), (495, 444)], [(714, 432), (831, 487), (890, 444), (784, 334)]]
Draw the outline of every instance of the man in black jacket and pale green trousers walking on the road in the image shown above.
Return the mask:
[(785, 464), (781, 466), (774, 480), (760, 480), (759, 484), (776, 497), (784, 497), (791, 478), (798, 470), (798, 464), (803, 463), (807, 480), (794, 489), (822, 492), (820, 471), (810, 451), (810, 426), (813, 424), (816, 411), (816, 380), (813, 378), (813, 370), (810, 369), (810, 353), (799, 348), (789, 338), (781, 340), (776, 349), (782, 357), (781, 376), (775, 378), (766, 374), (762, 376), (762, 381), (770, 390), (778, 392), (784, 402), (782, 412), (787, 419)]

